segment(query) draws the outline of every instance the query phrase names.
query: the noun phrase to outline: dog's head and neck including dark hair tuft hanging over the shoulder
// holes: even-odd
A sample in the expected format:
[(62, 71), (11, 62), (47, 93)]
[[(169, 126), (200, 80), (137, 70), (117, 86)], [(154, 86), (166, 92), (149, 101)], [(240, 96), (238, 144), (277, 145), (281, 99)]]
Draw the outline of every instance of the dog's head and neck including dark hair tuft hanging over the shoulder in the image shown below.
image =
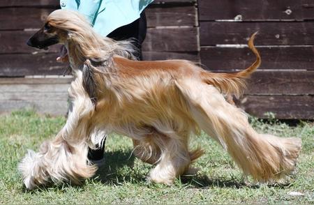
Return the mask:
[(98, 35), (88, 20), (73, 10), (54, 10), (44, 26), (27, 41), (27, 45), (45, 50), (57, 43), (67, 45), (70, 66), (74, 73), (82, 71), (84, 89), (94, 104), (97, 101), (94, 73), (107, 74), (105, 68), (112, 65), (114, 54), (136, 59), (131, 42), (117, 43)]

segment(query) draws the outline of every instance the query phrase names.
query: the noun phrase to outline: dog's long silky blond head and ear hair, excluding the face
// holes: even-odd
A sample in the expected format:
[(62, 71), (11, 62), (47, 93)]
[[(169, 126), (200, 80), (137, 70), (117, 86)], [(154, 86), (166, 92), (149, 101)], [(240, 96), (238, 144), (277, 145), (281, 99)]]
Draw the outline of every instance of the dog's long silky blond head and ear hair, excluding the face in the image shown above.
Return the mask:
[(127, 40), (117, 42), (98, 35), (85, 17), (76, 11), (55, 10), (47, 17), (47, 22), (68, 33), (68, 41), (77, 45), (75, 54), (82, 62), (86, 59), (107, 61), (114, 54), (137, 59), (135, 56), (137, 50), (133, 43)]

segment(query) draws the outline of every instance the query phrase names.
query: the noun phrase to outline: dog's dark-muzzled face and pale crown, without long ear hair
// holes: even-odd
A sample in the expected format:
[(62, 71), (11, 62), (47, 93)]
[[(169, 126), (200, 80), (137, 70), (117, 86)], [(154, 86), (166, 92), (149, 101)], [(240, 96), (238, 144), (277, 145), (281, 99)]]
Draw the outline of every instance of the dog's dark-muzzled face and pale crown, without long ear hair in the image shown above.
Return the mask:
[(43, 27), (27, 40), (27, 45), (47, 49), (57, 43), (65, 44), (73, 33), (91, 31), (87, 20), (75, 11), (55, 10), (45, 21)]

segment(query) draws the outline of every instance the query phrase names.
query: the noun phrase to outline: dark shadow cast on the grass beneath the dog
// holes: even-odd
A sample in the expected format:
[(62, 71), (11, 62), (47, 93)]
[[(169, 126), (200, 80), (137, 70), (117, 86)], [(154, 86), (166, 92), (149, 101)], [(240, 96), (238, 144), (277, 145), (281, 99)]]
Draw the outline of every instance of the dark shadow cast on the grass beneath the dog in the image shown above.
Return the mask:
[[(147, 183), (147, 176), (141, 173), (126, 173), (128, 170), (123, 170), (123, 167), (127, 169), (133, 167), (135, 156), (131, 151), (113, 151), (105, 153), (105, 165), (100, 167), (96, 174), (91, 178), (94, 181), (100, 181), (101, 183), (107, 185), (123, 185), (125, 182), (129, 183)], [(121, 171), (122, 168), (122, 171)], [(243, 180), (239, 179), (210, 179), (206, 175), (193, 175), (193, 176), (181, 176), (179, 178), (180, 186), (188, 188), (260, 188), (260, 185), (249, 185), (244, 183)], [(50, 189), (65, 190), (69, 187), (75, 187), (78, 190), (84, 189), (84, 183), (87, 181), (82, 180), (81, 185), (75, 185), (70, 182), (66, 183), (47, 183), (45, 186), (40, 186), (35, 190), (27, 190), (25, 187), (22, 188), (23, 192), (38, 192), (47, 191)], [(176, 185), (177, 183), (175, 183)], [(286, 184), (274, 184), (269, 185), (272, 187), (286, 188), (290, 183)]]

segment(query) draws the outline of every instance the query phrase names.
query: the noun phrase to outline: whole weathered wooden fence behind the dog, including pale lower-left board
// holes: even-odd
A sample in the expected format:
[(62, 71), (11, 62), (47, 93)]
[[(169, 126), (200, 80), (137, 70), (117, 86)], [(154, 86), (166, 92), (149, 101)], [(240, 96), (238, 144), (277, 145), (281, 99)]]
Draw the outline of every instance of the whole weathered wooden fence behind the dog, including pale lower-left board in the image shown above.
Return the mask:
[[(55, 61), (59, 47), (39, 51), (25, 44), (57, 8), (59, 0), (0, 1), (0, 112), (66, 112), (70, 79), (57, 77), (64, 70)], [(262, 118), (274, 112), (280, 119), (314, 119), (313, 1), (155, 0), (146, 15), (144, 59), (201, 61), (214, 72), (249, 66), (255, 59), (242, 45), (259, 31), (262, 66), (239, 106)]]

